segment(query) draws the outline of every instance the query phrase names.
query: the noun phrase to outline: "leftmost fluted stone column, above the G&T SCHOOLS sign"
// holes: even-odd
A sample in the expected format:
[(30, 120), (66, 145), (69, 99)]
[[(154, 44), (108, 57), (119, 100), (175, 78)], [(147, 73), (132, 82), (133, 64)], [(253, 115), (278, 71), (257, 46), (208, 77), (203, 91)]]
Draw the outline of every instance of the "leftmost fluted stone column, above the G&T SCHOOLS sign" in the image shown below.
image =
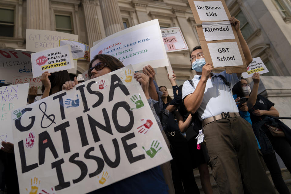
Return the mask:
[(26, 29), (51, 30), (49, 0), (27, 0)]

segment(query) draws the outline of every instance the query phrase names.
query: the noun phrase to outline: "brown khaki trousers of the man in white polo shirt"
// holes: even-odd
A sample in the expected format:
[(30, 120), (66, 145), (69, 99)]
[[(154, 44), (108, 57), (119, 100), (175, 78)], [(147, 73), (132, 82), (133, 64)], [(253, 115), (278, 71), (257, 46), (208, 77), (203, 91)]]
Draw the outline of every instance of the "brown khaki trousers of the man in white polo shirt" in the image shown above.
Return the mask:
[(261, 163), (252, 126), (241, 117), (219, 119), (204, 126), (212, 175), (220, 193), (276, 193)]

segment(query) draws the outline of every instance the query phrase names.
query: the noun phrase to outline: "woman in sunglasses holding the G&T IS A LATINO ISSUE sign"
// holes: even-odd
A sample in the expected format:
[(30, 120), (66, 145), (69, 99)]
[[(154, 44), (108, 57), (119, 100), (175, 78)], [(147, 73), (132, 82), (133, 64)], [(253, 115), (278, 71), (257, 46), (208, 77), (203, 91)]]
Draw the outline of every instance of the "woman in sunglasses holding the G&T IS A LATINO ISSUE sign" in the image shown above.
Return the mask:
[[(122, 67), (124, 67), (122, 62), (115, 57), (101, 54), (96, 55), (90, 62), (88, 73), (90, 79), (94, 79)], [(149, 96), (149, 77), (143, 73), (134, 73), (134, 78), (141, 84), (142, 90), (144, 91), (149, 105), (153, 110), (154, 116), (161, 128), (162, 126), (156, 112), (154, 111)], [(62, 89), (72, 89), (76, 84), (78, 84), (78, 81), (75, 77), (74, 81), (65, 82)], [(157, 166), (109, 186), (92, 191), (89, 194), (95, 193), (168, 193), (168, 186), (166, 185), (160, 166)]]

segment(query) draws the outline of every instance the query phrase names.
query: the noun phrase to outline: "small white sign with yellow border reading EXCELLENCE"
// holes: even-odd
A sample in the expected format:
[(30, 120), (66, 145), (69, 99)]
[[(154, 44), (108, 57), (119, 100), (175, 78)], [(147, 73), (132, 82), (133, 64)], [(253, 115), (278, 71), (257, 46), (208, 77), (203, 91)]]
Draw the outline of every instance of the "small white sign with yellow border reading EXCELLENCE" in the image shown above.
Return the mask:
[(89, 51), (89, 45), (74, 40), (60, 40), (60, 46), (70, 45), (73, 59), (85, 59), (85, 51)]

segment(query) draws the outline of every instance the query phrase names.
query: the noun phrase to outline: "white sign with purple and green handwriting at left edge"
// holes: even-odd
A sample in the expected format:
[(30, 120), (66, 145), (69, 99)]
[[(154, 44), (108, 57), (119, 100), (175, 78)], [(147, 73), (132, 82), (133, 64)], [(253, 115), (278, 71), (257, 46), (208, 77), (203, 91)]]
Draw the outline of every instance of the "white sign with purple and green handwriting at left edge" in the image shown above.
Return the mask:
[(0, 87), (0, 142), (13, 143), (11, 114), (17, 117), (18, 108), (26, 105), (28, 86), (29, 83)]

